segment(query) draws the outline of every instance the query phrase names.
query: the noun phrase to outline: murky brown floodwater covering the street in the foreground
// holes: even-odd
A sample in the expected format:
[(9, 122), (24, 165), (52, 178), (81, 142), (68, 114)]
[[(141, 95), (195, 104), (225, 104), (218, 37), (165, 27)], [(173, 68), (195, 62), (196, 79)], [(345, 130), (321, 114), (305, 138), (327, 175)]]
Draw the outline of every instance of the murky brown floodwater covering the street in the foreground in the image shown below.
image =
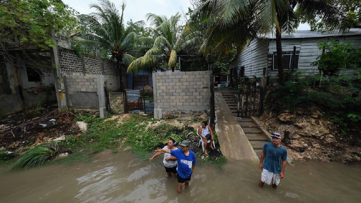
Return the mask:
[(101, 152), (92, 162), (7, 172), (0, 167), (0, 202), (360, 202), (361, 165), (287, 165), (275, 190), (258, 187), (255, 163), (197, 164), (190, 187), (177, 193), (162, 157), (153, 163), (126, 151)]

